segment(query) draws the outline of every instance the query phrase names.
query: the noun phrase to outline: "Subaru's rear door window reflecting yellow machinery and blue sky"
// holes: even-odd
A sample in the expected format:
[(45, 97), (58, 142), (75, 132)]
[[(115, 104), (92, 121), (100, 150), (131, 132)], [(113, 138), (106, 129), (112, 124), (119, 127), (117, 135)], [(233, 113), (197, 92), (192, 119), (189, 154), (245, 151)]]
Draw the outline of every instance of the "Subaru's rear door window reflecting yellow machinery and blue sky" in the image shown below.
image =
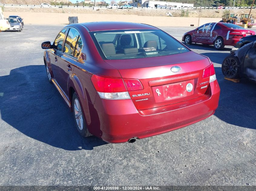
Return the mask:
[(74, 28), (70, 28), (68, 31), (67, 39), (65, 41), (65, 48), (63, 50), (64, 53), (70, 56), (73, 56), (78, 37), (79, 37), (78, 31), (75, 30)]

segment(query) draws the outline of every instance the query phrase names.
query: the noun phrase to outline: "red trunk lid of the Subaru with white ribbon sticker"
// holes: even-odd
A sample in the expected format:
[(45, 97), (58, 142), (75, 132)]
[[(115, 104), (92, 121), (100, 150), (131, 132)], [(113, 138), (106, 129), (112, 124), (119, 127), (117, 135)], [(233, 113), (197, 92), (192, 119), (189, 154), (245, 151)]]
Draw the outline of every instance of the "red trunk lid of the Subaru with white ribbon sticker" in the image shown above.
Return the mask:
[[(210, 65), (208, 58), (192, 51), (161, 57), (105, 62), (118, 69), (122, 78), (141, 81), (143, 90), (129, 92), (138, 110), (199, 97), (205, 93), (209, 84), (210, 76), (202, 78), (204, 69)], [(174, 69), (178, 67), (181, 70), (176, 72)]]

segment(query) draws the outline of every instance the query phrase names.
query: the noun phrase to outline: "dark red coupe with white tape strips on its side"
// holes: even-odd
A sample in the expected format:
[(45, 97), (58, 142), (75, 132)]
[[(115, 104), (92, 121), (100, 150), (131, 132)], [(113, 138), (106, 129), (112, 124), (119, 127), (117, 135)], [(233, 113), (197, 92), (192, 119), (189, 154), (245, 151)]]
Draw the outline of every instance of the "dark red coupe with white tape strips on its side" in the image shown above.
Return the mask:
[(202, 43), (213, 45), (215, 49), (223, 49), (225, 45), (235, 46), (242, 37), (254, 34), (253, 30), (231, 23), (207, 23), (185, 33), (182, 41), (186, 44)]

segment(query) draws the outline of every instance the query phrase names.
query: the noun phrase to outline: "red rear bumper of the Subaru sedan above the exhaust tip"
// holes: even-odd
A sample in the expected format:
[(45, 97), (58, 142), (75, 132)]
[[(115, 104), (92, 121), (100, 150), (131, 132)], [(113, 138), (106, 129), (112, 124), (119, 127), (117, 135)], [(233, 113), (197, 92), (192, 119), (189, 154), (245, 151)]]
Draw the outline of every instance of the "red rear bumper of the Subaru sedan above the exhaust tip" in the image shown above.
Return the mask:
[(99, 123), (93, 125), (90, 122), (88, 130), (109, 143), (127, 142), (132, 137), (141, 139), (162, 134), (214, 114), (218, 107), (219, 95), (220, 88), (215, 80), (210, 83), (207, 94), (157, 108), (157, 112), (156, 108), (138, 111), (131, 99), (103, 100), (97, 95), (93, 108), (89, 110), (90, 121), (99, 120)]

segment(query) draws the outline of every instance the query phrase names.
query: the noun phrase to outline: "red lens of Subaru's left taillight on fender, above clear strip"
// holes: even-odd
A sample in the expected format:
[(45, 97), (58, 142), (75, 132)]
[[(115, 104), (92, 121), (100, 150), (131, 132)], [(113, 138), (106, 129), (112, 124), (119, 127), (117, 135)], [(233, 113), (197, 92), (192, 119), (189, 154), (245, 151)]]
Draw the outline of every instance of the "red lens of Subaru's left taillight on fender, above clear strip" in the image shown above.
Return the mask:
[(127, 91), (122, 78), (92, 75), (91, 82), (98, 92), (123, 92)]

